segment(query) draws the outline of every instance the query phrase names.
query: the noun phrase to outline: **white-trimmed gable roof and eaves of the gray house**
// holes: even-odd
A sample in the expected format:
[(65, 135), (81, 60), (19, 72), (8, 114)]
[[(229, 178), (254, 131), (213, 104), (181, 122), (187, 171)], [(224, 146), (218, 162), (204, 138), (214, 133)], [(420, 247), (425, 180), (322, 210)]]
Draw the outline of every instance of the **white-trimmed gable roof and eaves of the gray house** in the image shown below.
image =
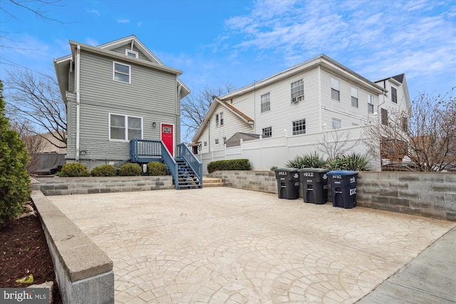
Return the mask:
[[(110, 58), (117, 58), (122, 61), (127, 61), (129, 63), (134, 63), (137, 65), (147, 66), (148, 68), (154, 68), (156, 70), (162, 70), (167, 73), (175, 74), (176, 76), (182, 75), (182, 70), (176, 70), (175, 68), (168, 68), (165, 66), (160, 59), (157, 58), (148, 48), (146, 48), (135, 35), (131, 35), (125, 38), (120, 38), (115, 41), (111, 41), (108, 43), (104, 43), (100, 46), (89, 46), (84, 43), (78, 43), (76, 41), (69, 41), (71, 47), (71, 55), (63, 56), (61, 58), (54, 59), (54, 68), (56, 69), (57, 79), (59, 80), (59, 86), (61, 90), (61, 94), (63, 100), (65, 100), (65, 93), (68, 90), (68, 73), (70, 71), (70, 64), (76, 58), (76, 50), (78, 46), (81, 50), (88, 51), (90, 53), (98, 53), (100, 55), (105, 55)], [(125, 46), (126, 44), (130, 43), (130, 48), (133, 49), (133, 46), (138, 48), (139, 51), (148, 59), (148, 61), (140, 59), (140, 58), (133, 58), (126, 55), (123, 55), (118, 52), (112, 51), (115, 48), (120, 46)], [(182, 81), (177, 78), (177, 83), (180, 85), (180, 98), (184, 98), (188, 95), (191, 91), (182, 83)]]

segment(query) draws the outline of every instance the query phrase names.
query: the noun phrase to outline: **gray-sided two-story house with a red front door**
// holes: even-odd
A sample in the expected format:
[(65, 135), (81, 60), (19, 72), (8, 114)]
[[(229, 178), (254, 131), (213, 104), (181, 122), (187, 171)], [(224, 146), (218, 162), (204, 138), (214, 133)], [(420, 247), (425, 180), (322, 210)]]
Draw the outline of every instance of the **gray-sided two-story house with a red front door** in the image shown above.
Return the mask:
[(92, 169), (180, 157), (180, 100), (190, 93), (182, 71), (134, 35), (96, 47), (69, 43), (71, 55), (54, 60), (67, 110), (66, 162)]

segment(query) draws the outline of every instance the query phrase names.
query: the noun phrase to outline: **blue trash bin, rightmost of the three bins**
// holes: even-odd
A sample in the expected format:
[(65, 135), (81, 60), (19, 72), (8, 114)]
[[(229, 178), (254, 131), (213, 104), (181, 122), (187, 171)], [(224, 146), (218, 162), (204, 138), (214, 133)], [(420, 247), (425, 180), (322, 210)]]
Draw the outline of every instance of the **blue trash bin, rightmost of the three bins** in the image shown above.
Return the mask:
[(347, 209), (355, 207), (358, 171), (335, 170), (326, 174), (331, 185), (333, 206)]

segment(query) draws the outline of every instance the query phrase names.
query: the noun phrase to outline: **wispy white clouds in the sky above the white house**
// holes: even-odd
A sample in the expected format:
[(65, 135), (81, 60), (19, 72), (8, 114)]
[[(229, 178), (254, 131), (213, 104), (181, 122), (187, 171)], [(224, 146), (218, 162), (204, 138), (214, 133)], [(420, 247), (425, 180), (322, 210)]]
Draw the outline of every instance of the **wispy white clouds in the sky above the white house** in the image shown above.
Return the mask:
[(255, 1), (247, 14), (224, 23), (214, 50), (229, 50), (239, 62), (243, 54), (254, 53), (257, 60), (285, 68), (325, 53), (373, 80), (406, 73), (409, 80), (437, 83), (435, 75), (456, 68), (455, 6), (445, 1), (383, 4)]

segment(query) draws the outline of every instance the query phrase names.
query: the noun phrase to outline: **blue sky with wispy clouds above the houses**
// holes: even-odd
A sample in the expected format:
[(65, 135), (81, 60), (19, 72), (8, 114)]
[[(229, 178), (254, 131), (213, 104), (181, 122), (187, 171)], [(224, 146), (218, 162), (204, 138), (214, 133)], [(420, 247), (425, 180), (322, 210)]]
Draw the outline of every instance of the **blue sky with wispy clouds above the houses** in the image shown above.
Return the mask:
[[(456, 86), (455, 1), (61, 0), (37, 18), (0, 0), (0, 79), (21, 65), (53, 72), (68, 40), (135, 34), (195, 93), (237, 88), (321, 53), (369, 80), (405, 73), (410, 98)], [(14, 16), (14, 17), (13, 17)]]

